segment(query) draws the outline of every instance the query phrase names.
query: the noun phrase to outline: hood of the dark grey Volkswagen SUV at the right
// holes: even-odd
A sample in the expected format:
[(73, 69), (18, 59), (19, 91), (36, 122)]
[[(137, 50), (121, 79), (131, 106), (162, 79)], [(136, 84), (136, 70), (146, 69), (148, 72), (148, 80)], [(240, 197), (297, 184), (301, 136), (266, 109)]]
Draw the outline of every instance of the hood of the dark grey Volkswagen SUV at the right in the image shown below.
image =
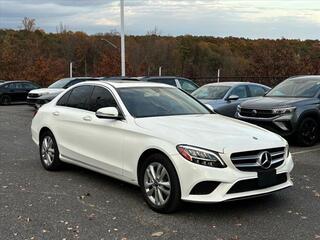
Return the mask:
[(242, 108), (249, 109), (274, 109), (318, 103), (314, 98), (284, 98), (284, 97), (260, 97), (245, 101), (240, 104)]

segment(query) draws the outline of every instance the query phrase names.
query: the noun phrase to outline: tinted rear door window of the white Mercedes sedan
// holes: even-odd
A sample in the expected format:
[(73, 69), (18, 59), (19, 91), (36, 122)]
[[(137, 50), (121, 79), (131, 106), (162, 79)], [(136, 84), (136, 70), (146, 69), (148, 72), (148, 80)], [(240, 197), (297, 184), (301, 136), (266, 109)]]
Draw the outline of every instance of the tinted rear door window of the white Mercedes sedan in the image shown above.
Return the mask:
[(92, 93), (92, 86), (80, 86), (71, 90), (65, 106), (88, 110), (88, 101)]

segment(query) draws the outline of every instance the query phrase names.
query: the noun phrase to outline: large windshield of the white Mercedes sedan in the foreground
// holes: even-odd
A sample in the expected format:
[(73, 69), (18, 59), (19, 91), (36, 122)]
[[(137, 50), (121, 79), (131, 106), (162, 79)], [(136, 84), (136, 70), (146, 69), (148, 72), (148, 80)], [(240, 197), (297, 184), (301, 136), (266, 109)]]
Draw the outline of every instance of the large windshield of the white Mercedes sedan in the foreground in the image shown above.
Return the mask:
[(118, 93), (130, 114), (136, 118), (211, 113), (177, 88), (120, 88)]

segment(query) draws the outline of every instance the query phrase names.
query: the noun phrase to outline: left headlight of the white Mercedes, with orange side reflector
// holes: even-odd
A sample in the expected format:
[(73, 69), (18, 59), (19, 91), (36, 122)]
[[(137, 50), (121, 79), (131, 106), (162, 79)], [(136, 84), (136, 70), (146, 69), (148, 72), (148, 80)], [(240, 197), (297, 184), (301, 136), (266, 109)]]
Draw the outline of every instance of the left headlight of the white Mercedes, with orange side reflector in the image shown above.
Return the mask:
[(208, 167), (226, 167), (226, 164), (222, 161), (219, 154), (216, 152), (188, 145), (178, 145), (177, 150), (182, 157), (190, 162)]

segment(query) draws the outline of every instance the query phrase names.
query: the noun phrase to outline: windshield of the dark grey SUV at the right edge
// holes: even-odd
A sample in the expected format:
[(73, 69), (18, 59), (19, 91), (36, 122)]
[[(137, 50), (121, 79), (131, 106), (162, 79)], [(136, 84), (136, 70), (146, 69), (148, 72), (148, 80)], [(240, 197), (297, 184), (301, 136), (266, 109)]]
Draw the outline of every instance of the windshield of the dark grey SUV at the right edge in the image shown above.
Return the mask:
[(320, 79), (288, 79), (274, 89), (267, 97), (314, 97), (320, 90)]

